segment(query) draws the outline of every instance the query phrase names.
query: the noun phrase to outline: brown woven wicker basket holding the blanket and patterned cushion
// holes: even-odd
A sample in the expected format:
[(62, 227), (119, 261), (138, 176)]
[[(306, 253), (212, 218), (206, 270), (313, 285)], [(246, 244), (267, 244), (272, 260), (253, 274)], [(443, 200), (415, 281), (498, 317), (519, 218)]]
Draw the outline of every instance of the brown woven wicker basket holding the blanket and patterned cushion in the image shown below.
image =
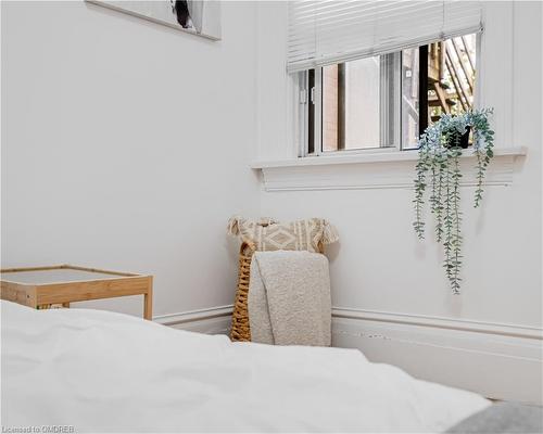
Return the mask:
[[(318, 250), (324, 253), (324, 245), (318, 244)], [(241, 243), (239, 252), (238, 290), (233, 303), (232, 324), (230, 340), (237, 342), (251, 341), (251, 328), (249, 327), (249, 278), (251, 275), (251, 259), (255, 250), (248, 243)]]

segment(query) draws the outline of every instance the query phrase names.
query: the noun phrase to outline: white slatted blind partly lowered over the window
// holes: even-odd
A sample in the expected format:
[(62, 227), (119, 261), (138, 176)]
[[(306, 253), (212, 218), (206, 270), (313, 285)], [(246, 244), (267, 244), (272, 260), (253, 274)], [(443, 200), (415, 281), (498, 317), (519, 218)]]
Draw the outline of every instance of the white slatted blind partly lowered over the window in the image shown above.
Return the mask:
[(287, 69), (390, 53), (481, 30), (480, 1), (290, 1)]

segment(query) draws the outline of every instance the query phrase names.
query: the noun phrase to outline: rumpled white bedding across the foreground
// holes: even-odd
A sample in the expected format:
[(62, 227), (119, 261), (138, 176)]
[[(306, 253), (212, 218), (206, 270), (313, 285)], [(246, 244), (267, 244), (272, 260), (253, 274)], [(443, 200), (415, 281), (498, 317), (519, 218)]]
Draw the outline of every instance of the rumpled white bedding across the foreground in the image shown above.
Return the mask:
[(232, 344), (2, 302), (2, 425), (76, 432), (443, 432), (490, 404), (355, 349)]

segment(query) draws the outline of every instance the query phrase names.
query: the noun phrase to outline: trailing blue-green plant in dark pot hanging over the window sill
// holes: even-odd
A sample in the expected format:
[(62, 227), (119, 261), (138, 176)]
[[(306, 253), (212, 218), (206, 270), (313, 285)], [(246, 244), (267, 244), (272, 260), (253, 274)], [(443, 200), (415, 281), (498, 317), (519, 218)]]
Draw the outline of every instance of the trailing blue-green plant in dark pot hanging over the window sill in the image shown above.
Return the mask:
[(476, 191), (473, 205), (482, 201), (484, 174), (493, 157), (494, 131), (489, 116), (492, 108), (469, 111), (462, 115), (442, 115), (419, 138), (418, 161), (415, 179), (415, 222), (418, 238), (425, 238), (422, 208), (425, 193), (429, 190), (428, 203), (435, 219), (435, 240), (443, 245), (445, 273), (453, 294), (460, 291), (462, 269), (462, 210), (459, 156), (468, 148), (472, 135), (476, 156)]

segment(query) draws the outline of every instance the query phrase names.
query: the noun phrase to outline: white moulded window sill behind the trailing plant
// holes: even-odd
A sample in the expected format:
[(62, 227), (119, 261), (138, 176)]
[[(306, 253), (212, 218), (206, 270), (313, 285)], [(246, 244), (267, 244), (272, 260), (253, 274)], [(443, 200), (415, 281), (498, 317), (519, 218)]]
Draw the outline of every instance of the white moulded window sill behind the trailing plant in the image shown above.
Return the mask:
[[(515, 161), (526, 154), (525, 146), (495, 149), (484, 183), (510, 184)], [(460, 158), (462, 184), (473, 186), (475, 156), (468, 150)], [(417, 151), (368, 152), (255, 162), (251, 168), (262, 170), (266, 191), (404, 189), (413, 187), (417, 159)]]

